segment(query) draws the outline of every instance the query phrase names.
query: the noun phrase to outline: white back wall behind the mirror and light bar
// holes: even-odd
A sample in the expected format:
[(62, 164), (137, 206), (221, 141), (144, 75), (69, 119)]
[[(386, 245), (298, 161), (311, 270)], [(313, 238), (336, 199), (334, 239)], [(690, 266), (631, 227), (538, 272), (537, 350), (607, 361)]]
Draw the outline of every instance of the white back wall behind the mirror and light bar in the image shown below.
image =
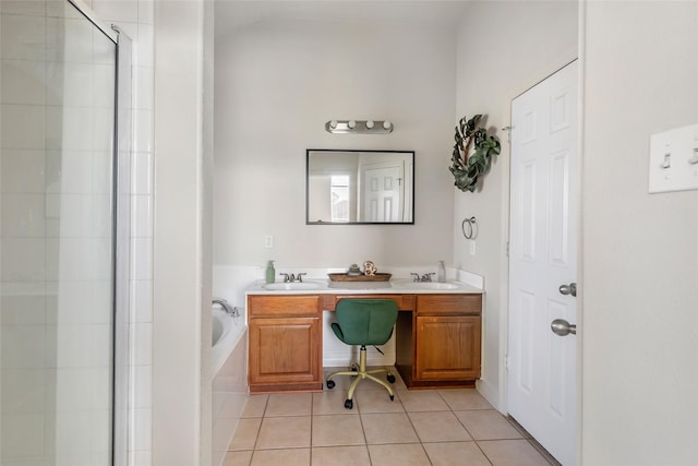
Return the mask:
[[(455, 31), (434, 26), (269, 20), (218, 37), (216, 264), (435, 271), (448, 260), (455, 52)], [(395, 131), (333, 135), (335, 118), (388, 119)], [(306, 226), (306, 148), (416, 151), (416, 224)]]

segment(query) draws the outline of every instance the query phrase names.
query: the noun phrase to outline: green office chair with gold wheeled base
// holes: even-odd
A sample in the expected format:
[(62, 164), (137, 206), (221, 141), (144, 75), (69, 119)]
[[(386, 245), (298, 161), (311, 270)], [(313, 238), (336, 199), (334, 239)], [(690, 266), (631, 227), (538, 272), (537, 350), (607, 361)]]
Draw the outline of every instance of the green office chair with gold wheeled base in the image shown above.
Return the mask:
[[(345, 402), (345, 408), (353, 408), (353, 392), (359, 382), (370, 379), (385, 386), (395, 398), (393, 389), (383, 380), (374, 377), (374, 373), (387, 372), (387, 381), (395, 382), (395, 375), (387, 369), (373, 369), (366, 371), (366, 345), (384, 345), (390, 335), (397, 321), (397, 303), (392, 299), (341, 299), (337, 302), (337, 323), (332, 324), (332, 330), (342, 343), (347, 345), (361, 345), (359, 351), (359, 367), (351, 371), (337, 371), (327, 375), (327, 389), (335, 387), (335, 375), (352, 375), (357, 379), (349, 387), (349, 394)], [(354, 366), (356, 368), (356, 366)]]

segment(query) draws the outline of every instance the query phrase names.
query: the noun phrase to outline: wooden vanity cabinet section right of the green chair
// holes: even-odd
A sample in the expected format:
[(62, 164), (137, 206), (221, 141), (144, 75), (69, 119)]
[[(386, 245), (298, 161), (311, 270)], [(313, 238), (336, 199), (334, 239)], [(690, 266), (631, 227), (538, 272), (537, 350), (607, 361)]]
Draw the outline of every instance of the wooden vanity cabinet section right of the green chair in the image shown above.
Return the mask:
[(412, 340), (398, 342), (398, 349), (412, 348), (400, 371), (408, 386), (474, 384), (480, 378), (481, 314), (481, 295), (417, 295)]

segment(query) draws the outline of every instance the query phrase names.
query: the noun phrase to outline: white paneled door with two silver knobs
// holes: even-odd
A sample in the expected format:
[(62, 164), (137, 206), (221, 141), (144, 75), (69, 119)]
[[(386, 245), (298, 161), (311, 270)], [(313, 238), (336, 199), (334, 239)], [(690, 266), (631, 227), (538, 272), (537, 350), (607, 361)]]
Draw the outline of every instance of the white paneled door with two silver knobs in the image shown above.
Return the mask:
[(568, 289), (577, 266), (577, 62), (514, 99), (512, 127), (507, 407), (568, 466), (576, 457), (576, 342), (551, 323), (577, 322)]

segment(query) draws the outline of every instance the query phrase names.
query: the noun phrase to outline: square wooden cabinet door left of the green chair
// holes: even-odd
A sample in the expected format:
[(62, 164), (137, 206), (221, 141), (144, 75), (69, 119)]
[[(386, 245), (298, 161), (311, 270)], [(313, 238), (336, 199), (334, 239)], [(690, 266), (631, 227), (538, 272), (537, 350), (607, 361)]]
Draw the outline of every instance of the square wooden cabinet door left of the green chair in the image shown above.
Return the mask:
[(318, 318), (250, 320), (250, 385), (322, 383)]

